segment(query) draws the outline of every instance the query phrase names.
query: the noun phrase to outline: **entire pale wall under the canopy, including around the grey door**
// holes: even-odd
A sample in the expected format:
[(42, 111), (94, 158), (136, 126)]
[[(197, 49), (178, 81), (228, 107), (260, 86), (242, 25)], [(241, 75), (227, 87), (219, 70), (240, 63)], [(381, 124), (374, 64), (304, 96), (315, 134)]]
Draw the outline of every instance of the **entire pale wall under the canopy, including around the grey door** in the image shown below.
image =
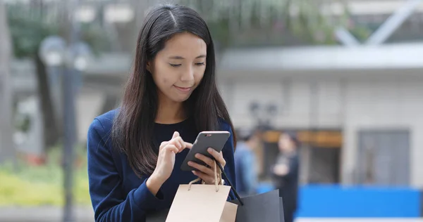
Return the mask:
[(343, 129), (341, 180), (347, 184), (353, 183), (360, 129), (410, 129), (410, 183), (423, 187), (423, 77), (321, 77), (315, 82), (244, 78), (219, 86), (235, 126), (252, 126), (249, 103), (257, 100), (278, 105), (277, 127)]

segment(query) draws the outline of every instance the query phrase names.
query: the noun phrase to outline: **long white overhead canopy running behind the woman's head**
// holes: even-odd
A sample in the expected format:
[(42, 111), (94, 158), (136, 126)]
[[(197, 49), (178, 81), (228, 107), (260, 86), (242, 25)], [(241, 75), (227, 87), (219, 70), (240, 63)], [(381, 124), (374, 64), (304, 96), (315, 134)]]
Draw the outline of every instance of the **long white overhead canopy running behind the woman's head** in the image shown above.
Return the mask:
[[(231, 48), (218, 61), (219, 78), (279, 77), (281, 75), (341, 76), (360, 74), (419, 75), (423, 72), (423, 43), (379, 46), (313, 46), (295, 48)], [(12, 70), (23, 70), (23, 62)], [(88, 63), (85, 80), (109, 90), (121, 88), (130, 73), (133, 57), (126, 53), (100, 55)], [(25, 68), (27, 72), (28, 68)], [(16, 89), (29, 89), (27, 73), (13, 74)], [(110, 81), (109, 81), (109, 80)], [(116, 81), (121, 79), (122, 81)], [(106, 84), (107, 86), (100, 86)], [(92, 86), (92, 85), (90, 85)]]

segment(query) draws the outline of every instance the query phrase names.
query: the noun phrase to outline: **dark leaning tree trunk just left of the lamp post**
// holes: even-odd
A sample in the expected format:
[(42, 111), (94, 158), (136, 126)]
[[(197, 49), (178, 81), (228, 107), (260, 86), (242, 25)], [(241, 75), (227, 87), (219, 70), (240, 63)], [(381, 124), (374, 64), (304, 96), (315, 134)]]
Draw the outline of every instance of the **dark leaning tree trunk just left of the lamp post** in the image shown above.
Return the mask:
[(37, 69), (38, 95), (41, 101), (44, 123), (44, 150), (47, 151), (53, 145), (56, 145), (61, 136), (61, 130), (56, 121), (47, 70), (38, 54), (35, 55), (35, 67)]

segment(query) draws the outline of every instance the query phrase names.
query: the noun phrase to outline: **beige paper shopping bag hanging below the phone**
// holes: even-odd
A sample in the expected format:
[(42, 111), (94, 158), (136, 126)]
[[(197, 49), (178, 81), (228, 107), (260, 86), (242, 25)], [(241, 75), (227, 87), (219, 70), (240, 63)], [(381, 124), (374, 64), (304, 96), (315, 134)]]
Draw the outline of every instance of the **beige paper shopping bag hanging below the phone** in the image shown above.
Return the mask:
[(238, 205), (226, 202), (231, 187), (218, 184), (221, 175), (214, 169), (214, 185), (192, 184), (199, 179), (179, 185), (166, 222), (235, 222)]

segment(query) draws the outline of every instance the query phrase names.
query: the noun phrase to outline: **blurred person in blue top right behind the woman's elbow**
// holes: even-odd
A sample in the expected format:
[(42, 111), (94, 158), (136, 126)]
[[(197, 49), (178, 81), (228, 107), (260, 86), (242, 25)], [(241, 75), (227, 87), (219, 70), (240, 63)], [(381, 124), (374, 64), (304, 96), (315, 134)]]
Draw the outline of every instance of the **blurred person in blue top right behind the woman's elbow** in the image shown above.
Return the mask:
[(253, 195), (257, 189), (257, 157), (254, 150), (260, 143), (259, 133), (255, 130), (238, 131), (235, 150), (235, 175), (237, 191), (241, 196)]

